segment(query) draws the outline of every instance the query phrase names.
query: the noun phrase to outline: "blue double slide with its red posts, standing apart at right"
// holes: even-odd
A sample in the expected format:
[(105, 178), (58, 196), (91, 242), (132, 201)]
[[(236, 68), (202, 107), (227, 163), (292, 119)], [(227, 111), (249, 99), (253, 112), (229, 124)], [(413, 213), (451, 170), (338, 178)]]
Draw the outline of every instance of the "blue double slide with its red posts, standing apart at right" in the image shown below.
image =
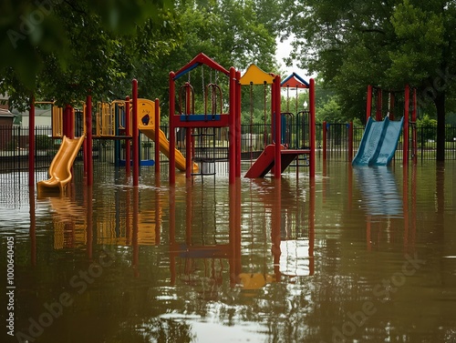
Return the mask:
[[(372, 94), (376, 91), (376, 116), (371, 116)], [(398, 147), (401, 131), (403, 132), (403, 163), (409, 162), (409, 125), (413, 128), (412, 133), (412, 156), (415, 161), (417, 156), (417, 135), (416, 135), (416, 91), (413, 91), (411, 122), (409, 121), (409, 86), (404, 91), (403, 115), (400, 121), (395, 121), (396, 101), (399, 92), (388, 91), (389, 96), (388, 113), (382, 115), (383, 111), (383, 90), (368, 86), (368, 101), (366, 119), (367, 124), (358, 148), (358, 153), (352, 161), (353, 166), (389, 166)], [(384, 118), (384, 119), (383, 119)]]

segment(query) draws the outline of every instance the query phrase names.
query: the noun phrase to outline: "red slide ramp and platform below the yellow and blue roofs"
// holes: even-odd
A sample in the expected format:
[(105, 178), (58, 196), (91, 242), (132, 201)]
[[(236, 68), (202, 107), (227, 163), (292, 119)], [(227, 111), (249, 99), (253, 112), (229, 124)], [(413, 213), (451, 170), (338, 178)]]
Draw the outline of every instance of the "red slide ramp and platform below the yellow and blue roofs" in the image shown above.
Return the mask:
[[(296, 156), (308, 154), (308, 150), (292, 150), (285, 149), (282, 146), (281, 151), (281, 173), (284, 172), (287, 166), (292, 163)], [(254, 161), (254, 164), (247, 170), (245, 177), (256, 178), (264, 177), (275, 165), (275, 144), (270, 144), (264, 148), (263, 153)]]

